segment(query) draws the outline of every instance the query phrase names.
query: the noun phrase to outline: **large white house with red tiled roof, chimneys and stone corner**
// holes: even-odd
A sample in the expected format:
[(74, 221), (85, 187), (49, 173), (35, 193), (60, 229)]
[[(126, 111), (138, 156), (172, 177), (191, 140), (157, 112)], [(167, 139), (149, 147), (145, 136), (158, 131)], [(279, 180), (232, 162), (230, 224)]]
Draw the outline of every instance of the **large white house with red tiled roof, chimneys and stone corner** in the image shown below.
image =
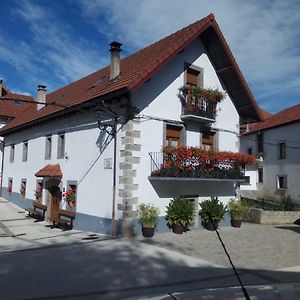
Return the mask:
[[(118, 232), (122, 223), (126, 233), (139, 203), (153, 203), (163, 216), (178, 194), (196, 205), (202, 197), (234, 196), (236, 180), (150, 176), (164, 145), (236, 152), (240, 119), (262, 119), (214, 16), (121, 61), (120, 46), (111, 44), (111, 66), (48, 95), (39, 86), (45, 105), (32, 105), (1, 130), (4, 197), (29, 207), (41, 190), (50, 219), (58, 207), (72, 209), (75, 228), (111, 233), (112, 223)], [(188, 83), (226, 92), (217, 115), (208, 106), (197, 107), (202, 115), (182, 110), (178, 89)], [(116, 144), (108, 134), (115, 123)], [(73, 208), (63, 196), (69, 189), (76, 190)]]

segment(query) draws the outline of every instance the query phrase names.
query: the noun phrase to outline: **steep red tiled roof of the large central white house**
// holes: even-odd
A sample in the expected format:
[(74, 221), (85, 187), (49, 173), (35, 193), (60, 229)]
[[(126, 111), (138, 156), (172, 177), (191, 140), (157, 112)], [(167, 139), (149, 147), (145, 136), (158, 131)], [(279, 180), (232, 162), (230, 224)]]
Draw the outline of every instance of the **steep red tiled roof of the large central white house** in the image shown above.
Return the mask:
[[(110, 66), (47, 95), (47, 106), (36, 109), (32, 105), (25, 113), (9, 122), (0, 133), (5, 135), (26, 125), (43, 121), (68, 108), (110, 95), (114, 92), (133, 92), (149, 80), (158, 70), (183, 51), (192, 41), (201, 40), (227, 93), (242, 118), (262, 120), (255, 99), (219, 29), (213, 14), (173, 33), (158, 42), (128, 56), (120, 62), (120, 75), (109, 79)], [(60, 106), (57, 106), (57, 105)], [(65, 108), (68, 107), (68, 108)]]

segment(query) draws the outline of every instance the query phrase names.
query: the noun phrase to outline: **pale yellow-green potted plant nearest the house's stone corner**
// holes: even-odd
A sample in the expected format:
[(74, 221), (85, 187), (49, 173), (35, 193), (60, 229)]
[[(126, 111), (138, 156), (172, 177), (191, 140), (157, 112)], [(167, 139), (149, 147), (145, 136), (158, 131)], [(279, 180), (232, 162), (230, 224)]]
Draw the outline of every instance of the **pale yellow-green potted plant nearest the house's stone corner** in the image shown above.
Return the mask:
[(159, 215), (159, 209), (152, 204), (141, 203), (137, 210), (138, 218), (142, 224), (142, 233), (144, 237), (153, 237), (156, 221)]

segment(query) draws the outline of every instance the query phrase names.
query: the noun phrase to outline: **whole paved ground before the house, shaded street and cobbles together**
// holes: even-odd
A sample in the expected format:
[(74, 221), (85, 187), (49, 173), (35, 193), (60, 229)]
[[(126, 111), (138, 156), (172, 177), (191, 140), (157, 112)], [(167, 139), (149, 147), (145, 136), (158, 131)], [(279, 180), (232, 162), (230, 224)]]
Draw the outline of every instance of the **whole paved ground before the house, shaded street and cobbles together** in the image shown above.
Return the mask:
[[(154, 239), (50, 229), (0, 200), (1, 299), (149, 299), (238, 285), (216, 233)], [(244, 284), (300, 282), (299, 228), (243, 224), (220, 234)]]

